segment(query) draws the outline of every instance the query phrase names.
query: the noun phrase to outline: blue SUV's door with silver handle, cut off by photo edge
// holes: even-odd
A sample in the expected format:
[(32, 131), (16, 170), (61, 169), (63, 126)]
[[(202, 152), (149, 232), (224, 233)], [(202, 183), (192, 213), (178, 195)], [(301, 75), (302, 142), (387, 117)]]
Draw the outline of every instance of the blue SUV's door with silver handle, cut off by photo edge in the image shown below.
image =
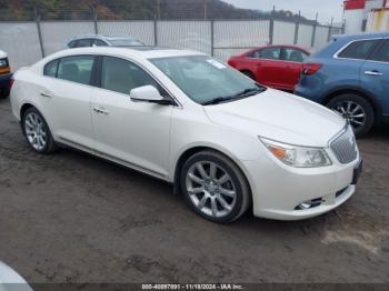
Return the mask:
[(389, 39), (381, 41), (360, 71), (362, 87), (375, 94), (383, 114), (389, 114)]

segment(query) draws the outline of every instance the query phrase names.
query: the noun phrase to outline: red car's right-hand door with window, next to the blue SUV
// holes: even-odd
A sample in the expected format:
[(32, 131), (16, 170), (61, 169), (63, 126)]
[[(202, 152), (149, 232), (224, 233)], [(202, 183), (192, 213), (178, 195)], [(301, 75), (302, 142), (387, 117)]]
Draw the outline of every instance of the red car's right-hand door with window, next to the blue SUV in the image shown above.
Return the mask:
[(281, 84), (285, 90), (295, 90), (302, 71), (302, 62), (307, 59), (308, 53), (296, 48), (283, 48), (282, 60), (285, 61), (285, 71), (280, 76)]

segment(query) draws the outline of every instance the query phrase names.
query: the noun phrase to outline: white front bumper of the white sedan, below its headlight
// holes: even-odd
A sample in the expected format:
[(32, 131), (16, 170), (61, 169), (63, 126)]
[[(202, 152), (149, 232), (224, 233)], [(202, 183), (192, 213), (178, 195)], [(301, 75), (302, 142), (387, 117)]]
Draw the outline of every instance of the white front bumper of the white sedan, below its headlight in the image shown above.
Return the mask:
[[(333, 153), (328, 152), (332, 161)], [(245, 162), (252, 191), (253, 214), (278, 220), (301, 220), (326, 213), (346, 202), (356, 191), (358, 158), (322, 168), (292, 168), (273, 157)], [(301, 209), (305, 202), (311, 208)], [(315, 202), (315, 203), (313, 203)]]

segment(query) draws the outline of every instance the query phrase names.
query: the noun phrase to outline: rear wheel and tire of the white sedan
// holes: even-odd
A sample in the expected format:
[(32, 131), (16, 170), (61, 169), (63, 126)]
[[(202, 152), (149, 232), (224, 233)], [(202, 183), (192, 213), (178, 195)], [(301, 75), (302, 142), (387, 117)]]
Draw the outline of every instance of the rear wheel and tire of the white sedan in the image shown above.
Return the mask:
[(51, 153), (58, 148), (49, 126), (36, 108), (29, 108), (22, 116), (21, 127), (27, 142), (38, 153)]

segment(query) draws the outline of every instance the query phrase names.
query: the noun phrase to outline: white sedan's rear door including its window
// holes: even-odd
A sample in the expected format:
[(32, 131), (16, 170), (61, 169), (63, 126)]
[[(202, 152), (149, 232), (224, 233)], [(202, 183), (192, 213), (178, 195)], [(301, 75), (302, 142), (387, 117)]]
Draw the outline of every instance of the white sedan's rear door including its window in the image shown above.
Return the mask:
[(38, 92), (56, 140), (93, 149), (91, 87), (94, 56), (64, 57), (44, 67)]

